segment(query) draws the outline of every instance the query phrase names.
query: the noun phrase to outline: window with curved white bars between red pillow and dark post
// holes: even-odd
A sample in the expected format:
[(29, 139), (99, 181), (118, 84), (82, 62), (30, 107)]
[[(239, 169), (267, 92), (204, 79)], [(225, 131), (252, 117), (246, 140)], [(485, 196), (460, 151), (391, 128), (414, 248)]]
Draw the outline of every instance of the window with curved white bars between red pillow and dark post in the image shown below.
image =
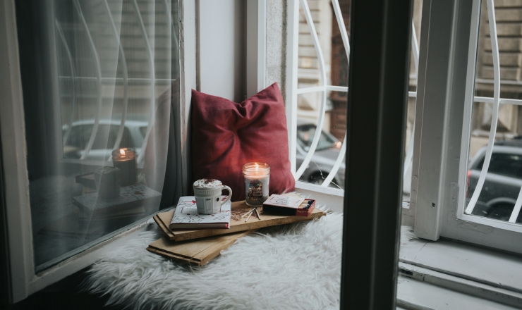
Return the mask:
[(289, 125), (289, 135), (296, 141), (290, 158), (301, 181), (297, 186), (332, 187), (336, 190), (328, 192), (339, 196), (344, 194), (349, 6), (350, 1), (293, 1), (290, 22), (296, 29), (289, 54), (296, 63), (288, 77), (296, 122)]

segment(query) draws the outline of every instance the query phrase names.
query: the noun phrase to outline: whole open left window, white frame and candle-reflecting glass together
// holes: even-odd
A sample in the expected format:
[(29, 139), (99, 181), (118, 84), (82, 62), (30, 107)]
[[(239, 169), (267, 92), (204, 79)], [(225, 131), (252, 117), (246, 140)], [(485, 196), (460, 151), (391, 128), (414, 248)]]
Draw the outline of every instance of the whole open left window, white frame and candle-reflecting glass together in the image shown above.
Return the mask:
[[(185, 33), (194, 34), (195, 7), (177, 0), (3, 4), (13, 301), (85, 268), (186, 187), (181, 116), (195, 88), (195, 39), (180, 38), (180, 7), (190, 16)], [(116, 163), (113, 151), (134, 164)]]

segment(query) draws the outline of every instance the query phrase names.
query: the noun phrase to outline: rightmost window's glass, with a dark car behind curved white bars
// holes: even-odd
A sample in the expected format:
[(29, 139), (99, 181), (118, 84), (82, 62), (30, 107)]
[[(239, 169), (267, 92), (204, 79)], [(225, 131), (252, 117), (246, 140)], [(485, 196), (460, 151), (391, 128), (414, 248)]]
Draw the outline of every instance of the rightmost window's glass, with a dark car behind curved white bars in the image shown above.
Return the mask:
[[(511, 223), (521, 223), (514, 208), (522, 187), (522, 67), (518, 61), (522, 49), (513, 44), (519, 40), (516, 31), (522, 18), (512, 14), (518, 9), (509, 1), (494, 2), (496, 23), (492, 26), (497, 31), (500, 70), (497, 109), (493, 104), (495, 51), (487, 2), (481, 4), (466, 190), (466, 213)], [(494, 143), (489, 148), (489, 166), (485, 168), (490, 135)]]

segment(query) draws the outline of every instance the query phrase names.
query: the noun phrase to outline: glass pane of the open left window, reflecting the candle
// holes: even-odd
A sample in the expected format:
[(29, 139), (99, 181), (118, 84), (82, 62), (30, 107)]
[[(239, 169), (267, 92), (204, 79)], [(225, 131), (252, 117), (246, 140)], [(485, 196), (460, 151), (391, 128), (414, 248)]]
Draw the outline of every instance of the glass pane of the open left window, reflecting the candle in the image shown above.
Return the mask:
[(178, 104), (178, 2), (16, 5), (42, 271), (164, 205), (171, 159), (168, 136), (156, 132), (169, 132), (171, 104)]

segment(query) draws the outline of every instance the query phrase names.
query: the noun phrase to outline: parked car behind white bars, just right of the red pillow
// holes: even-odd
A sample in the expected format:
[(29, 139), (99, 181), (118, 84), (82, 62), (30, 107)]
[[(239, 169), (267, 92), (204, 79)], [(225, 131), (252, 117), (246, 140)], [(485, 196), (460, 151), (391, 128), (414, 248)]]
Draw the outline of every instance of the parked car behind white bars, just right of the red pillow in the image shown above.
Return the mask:
[[(308, 154), (316, 130), (317, 126), (315, 124), (309, 123), (306, 120), (298, 120), (296, 161), (298, 168), (301, 166), (301, 163), (303, 163), (306, 154)], [(314, 184), (322, 184), (330, 171), (332, 171), (337, 156), (339, 156), (341, 143), (342, 142), (337, 140), (333, 135), (321, 130), (321, 136), (317, 143), (315, 154), (313, 154), (312, 160), (308, 164), (308, 168), (306, 168), (299, 180)], [(344, 189), (344, 172), (345, 166), (344, 163), (342, 163), (339, 171), (337, 171), (329, 186)]]

